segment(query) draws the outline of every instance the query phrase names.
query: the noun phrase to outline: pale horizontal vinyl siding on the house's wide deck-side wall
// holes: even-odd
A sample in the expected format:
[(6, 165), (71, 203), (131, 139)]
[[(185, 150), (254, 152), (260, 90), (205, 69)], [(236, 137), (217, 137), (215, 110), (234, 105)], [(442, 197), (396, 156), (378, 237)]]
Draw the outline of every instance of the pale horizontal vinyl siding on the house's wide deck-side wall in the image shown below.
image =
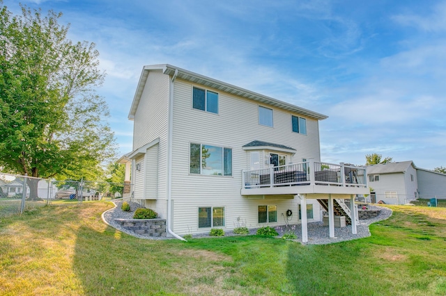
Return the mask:
[[(259, 124), (259, 104), (248, 99), (219, 94), (219, 114), (192, 108), (192, 83), (177, 79), (174, 83), (174, 132), (172, 153), (172, 199), (174, 201), (173, 229), (176, 233), (197, 233), (198, 208), (224, 206), (226, 227), (233, 229), (243, 221), (247, 227), (257, 227), (257, 206), (277, 206), (277, 224), (284, 224), (282, 213), (290, 208), (292, 222), (298, 222), (298, 199), (249, 199), (240, 195), (241, 172), (249, 168), (249, 152), (243, 150), (253, 140), (261, 140), (296, 149), (294, 163), (302, 158), (320, 160), (318, 122), (307, 118), (307, 135), (293, 133), (291, 113), (272, 108), (274, 126)], [(201, 85), (197, 85), (202, 88)], [(271, 108), (270, 106), (267, 106)], [(298, 115), (302, 117), (302, 115)], [(190, 174), (190, 143), (232, 149), (233, 176), (203, 176)], [(161, 147), (160, 147), (161, 149)], [(319, 206), (314, 202), (314, 218)], [(240, 218), (240, 219), (238, 219)]]

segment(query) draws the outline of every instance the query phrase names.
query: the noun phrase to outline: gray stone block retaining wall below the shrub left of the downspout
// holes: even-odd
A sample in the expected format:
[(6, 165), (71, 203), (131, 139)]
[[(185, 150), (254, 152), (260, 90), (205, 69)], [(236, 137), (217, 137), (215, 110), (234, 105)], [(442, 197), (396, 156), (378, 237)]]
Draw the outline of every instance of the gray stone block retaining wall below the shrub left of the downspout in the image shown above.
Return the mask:
[(140, 236), (166, 236), (165, 219), (115, 219), (121, 227)]

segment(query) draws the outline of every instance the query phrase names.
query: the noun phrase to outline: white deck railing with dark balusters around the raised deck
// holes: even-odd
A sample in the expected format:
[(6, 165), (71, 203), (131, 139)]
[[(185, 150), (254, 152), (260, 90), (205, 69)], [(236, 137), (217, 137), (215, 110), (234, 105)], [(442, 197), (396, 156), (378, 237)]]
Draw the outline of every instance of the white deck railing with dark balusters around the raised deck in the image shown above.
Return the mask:
[(245, 170), (242, 184), (245, 189), (305, 185), (367, 187), (367, 173), (365, 167), (307, 161), (262, 170)]

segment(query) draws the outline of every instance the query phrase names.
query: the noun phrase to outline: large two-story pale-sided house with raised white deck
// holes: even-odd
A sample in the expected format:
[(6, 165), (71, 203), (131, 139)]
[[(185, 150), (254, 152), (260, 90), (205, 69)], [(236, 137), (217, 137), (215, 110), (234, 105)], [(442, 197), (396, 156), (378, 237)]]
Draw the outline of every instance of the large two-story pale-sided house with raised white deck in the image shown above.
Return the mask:
[(325, 118), (185, 69), (146, 66), (129, 114), (134, 150), (119, 160), (125, 181), (132, 176), (126, 196), (167, 219), (177, 238), (302, 223), (306, 242), (322, 207), (334, 237), (334, 213), (352, 216), (353, 198), (369, 190), (365, 168), (321, 163)]

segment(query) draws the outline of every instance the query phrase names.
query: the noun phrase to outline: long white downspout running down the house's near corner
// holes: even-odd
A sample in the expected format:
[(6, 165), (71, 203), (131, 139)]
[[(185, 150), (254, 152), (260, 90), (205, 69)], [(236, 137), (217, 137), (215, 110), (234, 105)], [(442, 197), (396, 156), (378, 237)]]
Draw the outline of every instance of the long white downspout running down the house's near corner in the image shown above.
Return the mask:
[(178, 69), (175, 69), (174, 76), (169, 81), (169, 113), (167, 118), (167, 232), (178, 240), (185, 240), (171, 229), (172, 224), (172, 133), (174, 131), (174, 81), (178, 75)]

